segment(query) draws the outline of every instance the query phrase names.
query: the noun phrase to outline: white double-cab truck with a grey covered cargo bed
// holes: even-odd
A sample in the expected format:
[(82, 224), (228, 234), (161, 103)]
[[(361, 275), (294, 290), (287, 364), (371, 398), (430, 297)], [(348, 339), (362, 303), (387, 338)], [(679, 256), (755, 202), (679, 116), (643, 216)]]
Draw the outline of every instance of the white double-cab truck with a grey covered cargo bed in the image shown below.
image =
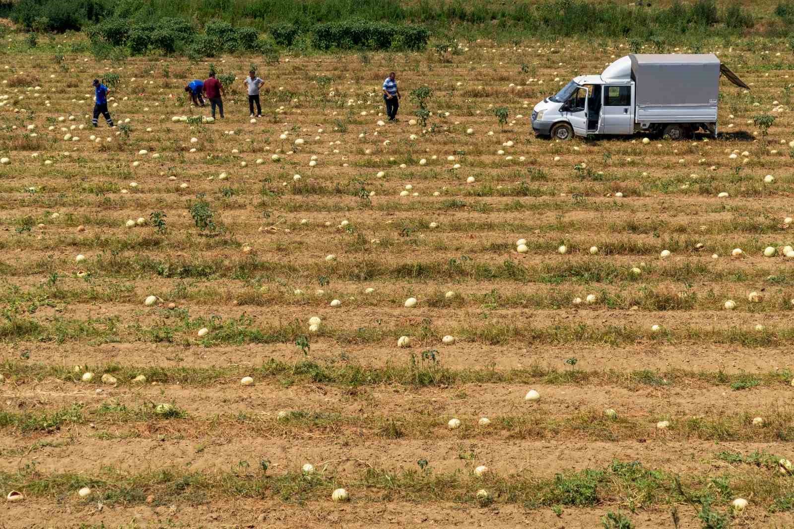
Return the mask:
[(558, 140), (638, 131), (679, 140), (698, 129), (716, 136), (720, 75), (750, 89), (713, 53), (631, 54), (535, 105), (532, 129)]

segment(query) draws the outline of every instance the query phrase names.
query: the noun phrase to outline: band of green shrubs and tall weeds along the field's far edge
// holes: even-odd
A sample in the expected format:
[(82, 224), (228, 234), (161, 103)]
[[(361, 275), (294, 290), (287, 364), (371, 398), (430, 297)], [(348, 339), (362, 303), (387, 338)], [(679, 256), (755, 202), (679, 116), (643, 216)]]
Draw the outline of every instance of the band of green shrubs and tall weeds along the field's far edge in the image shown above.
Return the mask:
[[(7, 0), (6, 0), (7, 1)], [(3, 0), (0, 0), (3, 2)], [(15, 0), (6, 8), (26, 29), (66, 31), (99, 24), (92, 44), (123, 46), (125, 52), (148, 49), (206, 55), (214, 52), (268, 49), (256, 29), (268, 31), (272, 43), (290, 47), (421, 49), (430, 33), (406, 21), (421, 21), (454, 37), (456, 33), (504, 33), (515, 38), (658, 37), (704, 33), (732, 36), (754, 26), (754, 17), (739, 2), (719, 8), (715, 0), (672, 2), (589, 2), (588, 0)], [(2, 5), (2, 4), (0, 4)], [(196, 21), (196, 29), (185, 22)], [(245, 21), (253, 27), (235, 27)], [(333, 22), (326, 22), (333, 21)], [(206, 30), (201, 25), (206, 23)], [(794, 25), (794, 0), (779, 0), (765, 34), (788, 36)], [(473, 32), (473, 33), (472, 33)], [(494, 33), (496, 32), (496, 33)], [(119, 44), (113, 44), (119, 43)], [(269, 49), (273, 49), (270, 45)]]

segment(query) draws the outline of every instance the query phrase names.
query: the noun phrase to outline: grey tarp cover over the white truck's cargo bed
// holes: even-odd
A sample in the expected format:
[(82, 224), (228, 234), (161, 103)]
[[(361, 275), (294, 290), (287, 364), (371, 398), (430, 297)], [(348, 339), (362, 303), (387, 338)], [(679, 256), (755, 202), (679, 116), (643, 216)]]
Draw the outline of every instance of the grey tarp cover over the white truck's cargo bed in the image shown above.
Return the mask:
[(637, 106), (716, 106), (719, 59), (703, 54), (631, 54)]

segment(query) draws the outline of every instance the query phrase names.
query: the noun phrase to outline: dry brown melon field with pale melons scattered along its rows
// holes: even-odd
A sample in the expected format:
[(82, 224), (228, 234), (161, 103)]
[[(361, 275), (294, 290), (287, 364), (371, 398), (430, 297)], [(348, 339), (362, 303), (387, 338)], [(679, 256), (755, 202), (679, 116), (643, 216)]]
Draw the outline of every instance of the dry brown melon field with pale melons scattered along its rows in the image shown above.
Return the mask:
[(560, 142), (534, 104), (627, 41), (222, 56), (210, 123), (183, 91), (210, 60), (26, 38), (3, 527), (794, 527), (783, 42), (704, 44), (751, 88), (721, 82), (717, 138)]

